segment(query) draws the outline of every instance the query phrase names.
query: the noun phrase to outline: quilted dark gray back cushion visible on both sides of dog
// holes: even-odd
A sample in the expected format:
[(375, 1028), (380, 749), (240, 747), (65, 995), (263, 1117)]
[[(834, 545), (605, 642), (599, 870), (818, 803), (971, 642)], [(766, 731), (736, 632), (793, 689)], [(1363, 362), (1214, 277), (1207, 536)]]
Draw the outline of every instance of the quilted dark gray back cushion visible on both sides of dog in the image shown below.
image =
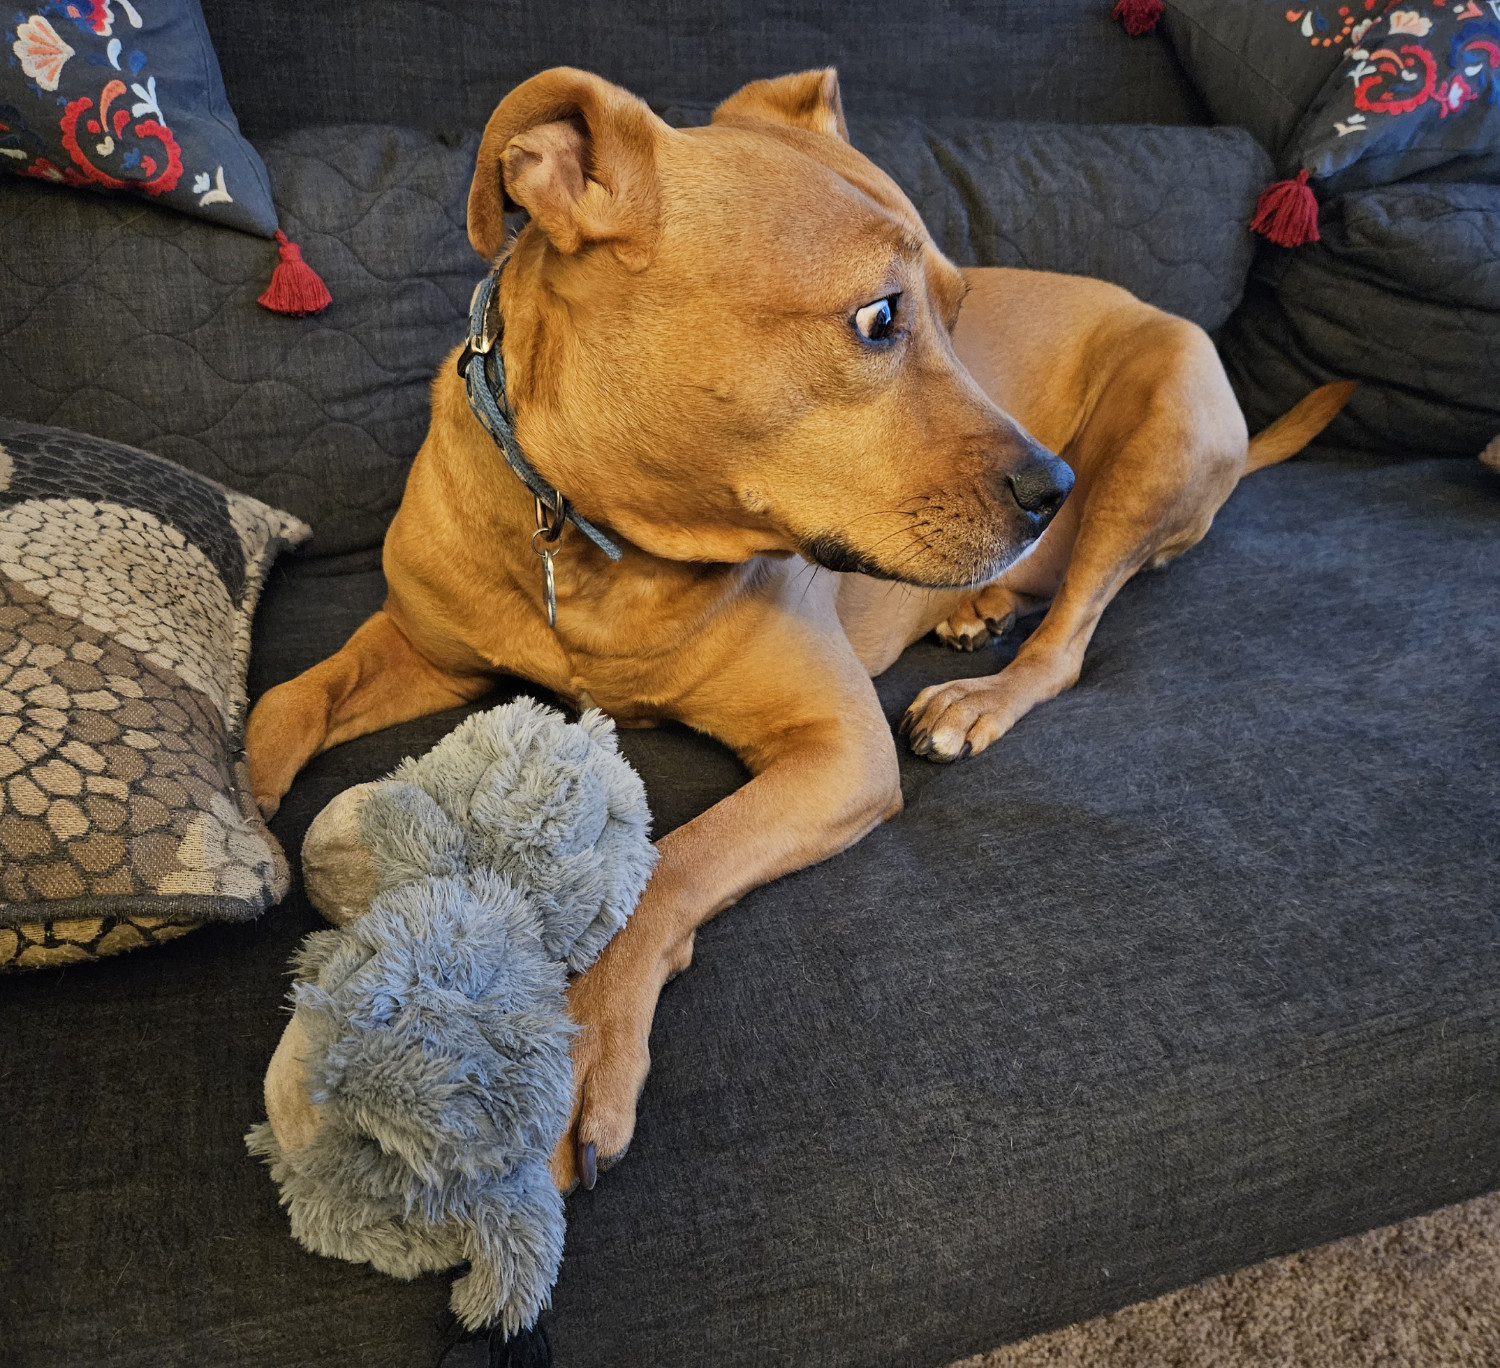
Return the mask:
[[(866, 120), (855, 135), (960, 261), (1100, 274), (1210, 328), (1239, 298), (1266, 174), (1245, 134)], [(382, 126), (262, 144), (286, 231), (333, 294), (306, 320), (255, 303), (254, 238), (0, 180), (0, 411), (288, 508), (314, 555), (376, 546), (483, 272), (465, 234), (476, 148)]]

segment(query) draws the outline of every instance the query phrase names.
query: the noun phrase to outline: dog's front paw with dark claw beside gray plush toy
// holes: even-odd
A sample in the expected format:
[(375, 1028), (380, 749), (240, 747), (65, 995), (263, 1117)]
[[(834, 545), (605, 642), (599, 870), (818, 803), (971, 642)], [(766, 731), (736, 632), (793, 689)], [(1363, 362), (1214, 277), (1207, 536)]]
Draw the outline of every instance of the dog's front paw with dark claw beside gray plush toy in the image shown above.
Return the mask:
[[(602, 972), (603, 970), (603, 972)], [(632, 982), (606, 954), (568, 986), (573, 1038), (573, 1116), (552, 1152), (560, 1192), (592, 1188), (624, 1158), (636, 1130), (636, 1101), (651, 1068), (651, 1018), (660, 984)]]

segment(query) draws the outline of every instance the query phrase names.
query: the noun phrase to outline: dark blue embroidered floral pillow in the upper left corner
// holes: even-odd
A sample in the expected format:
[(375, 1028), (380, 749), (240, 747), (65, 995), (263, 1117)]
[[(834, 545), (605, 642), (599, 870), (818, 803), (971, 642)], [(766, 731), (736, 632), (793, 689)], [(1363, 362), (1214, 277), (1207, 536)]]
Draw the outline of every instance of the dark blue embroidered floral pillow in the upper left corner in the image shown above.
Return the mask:
[(276, 231), (198, 0), (45, 0), (15, 16), (4, 45), (0, 168)]

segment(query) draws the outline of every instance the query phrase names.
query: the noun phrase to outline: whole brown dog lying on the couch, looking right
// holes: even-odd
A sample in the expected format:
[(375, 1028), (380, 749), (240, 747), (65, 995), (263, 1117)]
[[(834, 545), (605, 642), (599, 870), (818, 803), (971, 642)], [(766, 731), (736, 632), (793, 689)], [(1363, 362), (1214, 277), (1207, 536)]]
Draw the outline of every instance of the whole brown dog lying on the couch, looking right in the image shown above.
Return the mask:
[(597, 76), (544, 72), (484, 130), (482, 256), (514, 206), (531, 214), (500, 279), (516, 435), (624, 558), (566, 528), (549, 628), (532, 496), (450, 362), (386, 537), (386, 608), (267, 693), (248, 746), (272, 812), (327, 747), (508, 674), (741, 756), (752, 780), (662, 838), (634, 916), (572, 984), (567, 1188), (630, 1142), (657, 994), (696, 928), (900, 810), (870, 676), (934, 627), (972, 648), (1052, 600), (1008, 669), (912, 704), (918, 753), (982, 750), (1077, 680), (1136, 570), (1192, 546), (1347, 387), (1246, 444), (1197, 327), (1095, 280), (958, 272), (849, 146), (832, 70), (758, 81), (682, 130)]

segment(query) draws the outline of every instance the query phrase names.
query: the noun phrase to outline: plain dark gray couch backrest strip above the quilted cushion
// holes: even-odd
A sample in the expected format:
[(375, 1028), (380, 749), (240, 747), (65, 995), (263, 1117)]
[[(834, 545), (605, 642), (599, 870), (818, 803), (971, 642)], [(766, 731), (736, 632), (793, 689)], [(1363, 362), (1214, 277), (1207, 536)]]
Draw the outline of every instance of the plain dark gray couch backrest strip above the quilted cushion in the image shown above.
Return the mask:
[(548, 66), (654, 104), (834, 64), (852, 117), (1206, 123), (1167, 45), (1108, 0), (204, 0), (255, 136), (321, 123), (483, 124)]

